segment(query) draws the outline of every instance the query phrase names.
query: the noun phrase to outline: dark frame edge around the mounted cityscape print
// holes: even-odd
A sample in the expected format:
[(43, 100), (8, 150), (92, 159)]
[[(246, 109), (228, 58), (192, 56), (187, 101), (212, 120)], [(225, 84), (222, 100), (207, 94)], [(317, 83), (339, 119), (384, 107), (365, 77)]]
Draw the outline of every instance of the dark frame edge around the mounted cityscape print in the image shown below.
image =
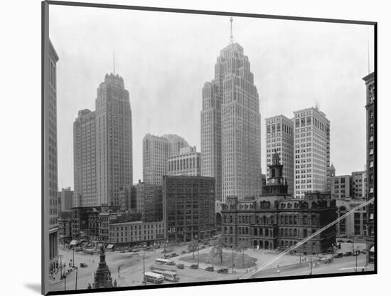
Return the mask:
[(161, 289), (168, 287), (186, 287), (186, 286), (199, 286), (199, 285), (222, 285), (222, 284), (232, 284), (232, 283), (242, 283), (242, 282), (264, 282), (272, 280), (296, 280), (296, 279), (309, 279), (317, 277), (345, 277), (350, 275), (373, 275), (377, 274), (377, 170), (375, 170), (375, 199), (374, 199), (374, 233), (375, 233), (375, 262), (373, 271), (365, 271), (361, 273), (335, 273), (335, 274), (324, 274), (324, 275), (297, 275), (289, 277), (262, 277), (256, 279), (243, 279), (243, 280), (220, 280), (213, 282), (189, 282), (189, 283), (173, 283), (168, 285), (145, 285), (145, 286), (132, 286), (132, 287), (113, 287), (113, 288), (102, 288), (102, 289), (90, 289), (90, 290), (64, 290), (64, 291), (55, 291), (50, 292), (48, 290), (48, 262), (45, 259), (45, 254), (48, 253), (47, 238), (45, 233), (48, 232), (48, 221), (46, 220), (45, 214), (48, 209), (48, 201), (45, 199), (44, 194), (44, 185), (45, 185), (45, 165), (44, 165), (44, 131), (46, 118), (43, 112), (45, 107), (45, 77), (48, 75), (46, 69), (46, 56), (48, 54), (49, 46), (49, 6), (58, 5), (58, 6), (83, 6), (83, 7), (94, 7), (102, 9), (127, 9), (127, 10), (136, 10), (136, 11), (160, 11), (160, 12), (172, 12), (172, 13), (181, 13), (181, 14), (208, 14), (215, 16), (239, 16), (239, 17), (250, 17), (250, 18), (274, 18), (274, 19), (283, 19), (283, 20), (294, 20), (294, 21), (315, 21), (315, 22), (329, 22), (329, 23), (350, 23), (350, 24), (360, 24), (373, 26), (374, 32), (374, 77), (375, 77), (375, 166), (377, 168), (377, 22), (373, 21), (354, 21), (354, 20), (342, 20), (342, 19), (332, 19), (332, 18), (310, 18), (310, 17), (294, 17), (294, 16), (274, 16), (274, 15), (265, 15), (265, 14), (244, 14), (244, 13), (235, 13), (227, 11), (201, 11), (201, 10), (190, 10), (190, 9), (172, 9), (172, 8), (160, 8), (160, 7), (144, 7), (144, 6), (126, 6), (126, 5), (111, 5), (111, 4), (96, 4), (96, 3), (82, 3), (82, 2), (70, 2), (70, 1), (43, 1), (42, 2), (42, 31), (41, 31), (41, 108), (42, 108), (42, 117), (41, 117), (41, 144), (42, 144), (42, 176), (41, 176), (41, 186), (42, 186), (42, 200), (41, 200), (41, 210), (42, 210), (42, 294), (43, 295), (68, 295), (68, 294), (80, 294), (80, 293), (91, 293), (91, 292), (112, 292), (112, 291), (127, 291), (127, 290), (147, 290), (147, 289)]

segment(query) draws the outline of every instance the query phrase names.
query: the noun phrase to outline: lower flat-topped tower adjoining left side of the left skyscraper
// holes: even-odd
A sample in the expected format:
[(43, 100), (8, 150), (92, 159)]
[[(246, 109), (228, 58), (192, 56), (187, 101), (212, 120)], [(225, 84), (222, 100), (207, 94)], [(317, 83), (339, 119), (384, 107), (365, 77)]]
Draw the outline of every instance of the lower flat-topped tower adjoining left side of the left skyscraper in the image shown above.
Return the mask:
[(73, 122), (73, 206), (100, 206), (97, 202), (95, 112), (77, 112)]

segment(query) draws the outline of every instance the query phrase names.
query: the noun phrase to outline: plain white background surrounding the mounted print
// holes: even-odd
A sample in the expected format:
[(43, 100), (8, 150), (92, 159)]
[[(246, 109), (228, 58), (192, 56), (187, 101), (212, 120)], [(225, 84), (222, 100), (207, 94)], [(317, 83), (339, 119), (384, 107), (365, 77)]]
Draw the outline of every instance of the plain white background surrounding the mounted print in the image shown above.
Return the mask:
[[(98, 1), (98, 0), (97, 0)], [(104, 1), (109, 4), (378, 22), (378, 275), (235, 285), (181, 287), (105, 295), (388, 295), (390, 231), (387, 227), (390, 131), (390, 9), (387, 1)], [(41, 290), (41, 3), (1, 3), (1, 294)], [(348, 120), (348, 118), (346, 118)], [(387, 292), (388, 291), (388, 292)]]

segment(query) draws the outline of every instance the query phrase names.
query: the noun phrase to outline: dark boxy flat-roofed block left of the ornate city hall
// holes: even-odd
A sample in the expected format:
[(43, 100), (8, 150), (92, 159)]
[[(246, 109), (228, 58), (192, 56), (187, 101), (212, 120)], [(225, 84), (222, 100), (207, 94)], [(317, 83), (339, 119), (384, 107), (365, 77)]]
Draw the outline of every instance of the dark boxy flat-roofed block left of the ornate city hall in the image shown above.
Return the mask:
[(190, 241), (213, 236), (215, 179), (205, 176), (164, 176), (163, 216), (166, 238)]

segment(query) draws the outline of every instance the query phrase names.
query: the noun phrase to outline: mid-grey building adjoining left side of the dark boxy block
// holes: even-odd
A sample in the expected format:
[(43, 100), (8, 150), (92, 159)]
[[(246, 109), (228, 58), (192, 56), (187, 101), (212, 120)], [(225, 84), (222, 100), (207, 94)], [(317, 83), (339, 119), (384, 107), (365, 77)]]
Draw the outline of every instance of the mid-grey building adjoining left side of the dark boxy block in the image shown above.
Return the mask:
[(163, 220), (162, 186), (140, 182), (136, 185), (136, 211), (144, 222)]

